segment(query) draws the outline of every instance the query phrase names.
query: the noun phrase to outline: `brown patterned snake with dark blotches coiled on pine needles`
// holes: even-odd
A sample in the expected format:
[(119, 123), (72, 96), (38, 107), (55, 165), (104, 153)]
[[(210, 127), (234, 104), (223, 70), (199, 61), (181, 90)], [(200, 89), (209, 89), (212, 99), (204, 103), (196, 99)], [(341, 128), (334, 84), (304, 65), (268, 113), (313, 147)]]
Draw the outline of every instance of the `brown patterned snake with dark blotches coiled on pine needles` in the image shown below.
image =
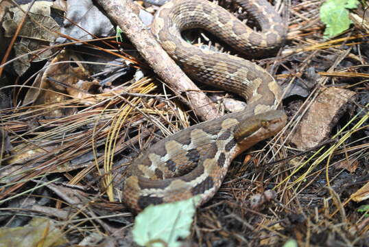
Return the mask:
[(172, 0), (154, 16), (152, 34), (189, 78), (237, 93), (248, 106), (180, 130), (142, 152), (128, 167), (122, 189), (123, 202), (133, 211), (194, 196), (200, 207), (215, 195), (236, 156), (287, 123), (278, 106), (281, 88), (270, 73), (245, 58), (195, 47), (181, 36), (200, 28), (246, 57), (274, 54), (287, 33), (281, 16), (265, 0), (236, 3), (260, 31), (206, 0)]

